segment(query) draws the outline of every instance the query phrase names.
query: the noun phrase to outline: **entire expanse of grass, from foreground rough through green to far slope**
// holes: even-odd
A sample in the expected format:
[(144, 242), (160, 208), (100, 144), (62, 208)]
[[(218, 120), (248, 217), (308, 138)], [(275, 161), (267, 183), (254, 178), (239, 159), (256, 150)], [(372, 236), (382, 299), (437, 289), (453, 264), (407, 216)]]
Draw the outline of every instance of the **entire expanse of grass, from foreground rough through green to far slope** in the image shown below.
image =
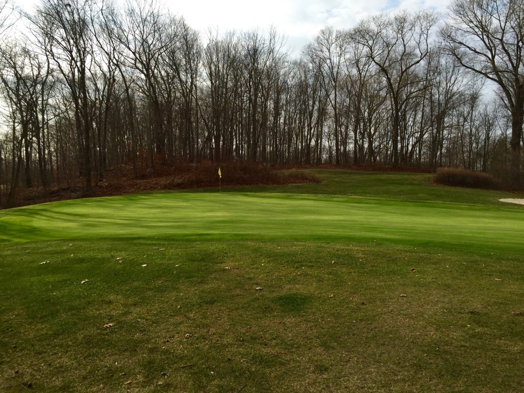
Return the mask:
[(524, 209), (317, 173), (0, 212), (0, 391), (521, 391)]

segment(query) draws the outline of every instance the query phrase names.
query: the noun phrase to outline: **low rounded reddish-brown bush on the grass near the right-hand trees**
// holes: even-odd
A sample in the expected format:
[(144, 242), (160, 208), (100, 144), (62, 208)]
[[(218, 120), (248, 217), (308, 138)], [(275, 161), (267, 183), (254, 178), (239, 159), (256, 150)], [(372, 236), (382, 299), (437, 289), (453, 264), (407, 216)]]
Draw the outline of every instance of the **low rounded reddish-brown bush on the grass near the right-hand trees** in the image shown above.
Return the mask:
[(474, 172), (464, 168), (439, 168), (436, 170), (435, 182), (453, 187), (483, 188), (500, 190), (503, 184), (485, 172)]

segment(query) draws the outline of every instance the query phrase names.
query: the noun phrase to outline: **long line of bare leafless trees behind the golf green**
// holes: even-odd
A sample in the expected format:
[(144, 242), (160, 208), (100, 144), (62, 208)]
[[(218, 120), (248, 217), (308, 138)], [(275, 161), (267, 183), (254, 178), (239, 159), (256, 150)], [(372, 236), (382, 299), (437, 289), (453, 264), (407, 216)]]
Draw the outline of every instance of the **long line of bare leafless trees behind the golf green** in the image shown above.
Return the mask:
[(464, 167), (519, 188), (523, 21), (520, 2), (457, 0), (445, 20), (326, 27), (297, 57), (276, 30), (199, 32), (154, 1), (42, 0), (0, 46), (0, 197), (202, 160)]

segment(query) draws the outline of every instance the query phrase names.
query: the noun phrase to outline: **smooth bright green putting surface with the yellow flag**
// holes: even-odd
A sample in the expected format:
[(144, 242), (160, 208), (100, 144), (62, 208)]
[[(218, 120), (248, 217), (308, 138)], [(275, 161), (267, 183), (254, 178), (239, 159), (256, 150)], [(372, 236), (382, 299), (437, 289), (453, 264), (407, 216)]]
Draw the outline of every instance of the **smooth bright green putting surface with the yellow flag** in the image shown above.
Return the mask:
[(354, 239), (521, 248), (524, 211), (272, 193), (143, 193), (0, 212), (3, 241), (97, 237)]

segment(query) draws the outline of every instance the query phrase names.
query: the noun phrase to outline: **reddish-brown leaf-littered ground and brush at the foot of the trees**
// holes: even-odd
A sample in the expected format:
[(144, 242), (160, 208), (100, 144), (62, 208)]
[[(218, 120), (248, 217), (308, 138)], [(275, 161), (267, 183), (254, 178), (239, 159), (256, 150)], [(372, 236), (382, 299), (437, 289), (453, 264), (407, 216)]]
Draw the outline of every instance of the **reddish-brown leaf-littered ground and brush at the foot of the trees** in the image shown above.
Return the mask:
[[(221, 168), (222, 179), (219, 178), (219, 167)], [(106, 170), (98, 181), (93, 174), (93, 189), (90, 192), (82, 191), (83, 179), (81, 178), (76, 179), (76, 181), (55, 182), (51, 184), (48, 190), (41, 187), (20, 189), (16, 201), (10, 207), (95, 196), (127, 195), (145, 191), (322, 182), (308, 171), (312, 169), (339, 169), (359, 172), (430, 172), (427, 169), (414, 167), (393, 168), (391, 165), (248, 166), (241, 163), (219, 164), (210, 161), (200, 164), (177, 163), (177, 165), (172, 166), (162, 165), (158, 162), (155, 172), (152, 174), (147, 174), (147, 169), (148, 166), (146, 165), (139, 166), (136, 178), (133, 178), (133, 168), (130, 165)], [(300, 171), (294, 169), (300, 169)], [(4, 199), (6, 198), (4, 197)], [(5, 207), (0, 203), (0, 209)]]

